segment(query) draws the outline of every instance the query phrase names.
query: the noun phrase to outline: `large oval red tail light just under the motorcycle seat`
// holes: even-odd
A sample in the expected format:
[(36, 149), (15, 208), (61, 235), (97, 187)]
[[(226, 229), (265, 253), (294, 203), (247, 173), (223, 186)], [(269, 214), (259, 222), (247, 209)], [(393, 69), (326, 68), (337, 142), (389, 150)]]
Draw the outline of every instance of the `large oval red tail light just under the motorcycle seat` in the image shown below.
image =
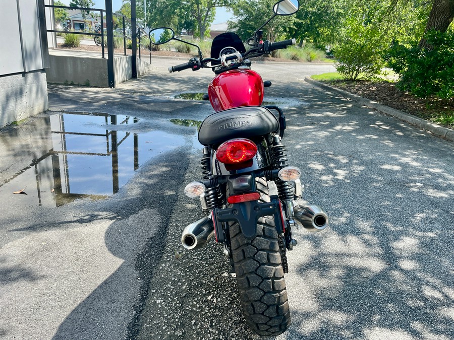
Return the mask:
[(238, 164), (249, 161), (257, 154), (254, 142), (237, 138), (222, 143), (216, 151), (216, 158), (224, 164)]

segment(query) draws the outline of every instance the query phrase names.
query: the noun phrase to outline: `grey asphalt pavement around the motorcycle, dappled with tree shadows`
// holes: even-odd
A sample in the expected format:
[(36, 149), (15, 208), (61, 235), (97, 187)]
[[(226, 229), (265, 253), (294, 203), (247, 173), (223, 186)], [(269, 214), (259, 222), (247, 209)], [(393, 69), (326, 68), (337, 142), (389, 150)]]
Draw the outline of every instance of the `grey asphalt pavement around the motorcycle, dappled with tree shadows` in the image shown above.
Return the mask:
[[(33, 176), (27, 197), (12, 193), (33, 162), (28, 170), (2, 163), (0, 338), (258, 338), (245, 325), (222, 247), (180, 244), (201, 216), (183, 194), (200, 178), (191, 125), (212, 109), (173, 96), (206, 92), (213, 74), (168, 74), (179, 63), (153, 59), (152, 74), (116, 89), (52, 85), (52, 112), (0, 133), (3, 150), (35, 145), (41, 118), (102, 112), (137, 118), (109, 129), (146, 135), (144, 145), (158, 149), (117, 193), (59, 207), (32, 200)], [(292, 324), (276, 339), (454, 338), (454, 143), (304, 82), (331, 68), (254, 64), (273, 83), (265, 102), (286, 113), (283, 142), (302, 169), (303, 196), (331, 219), (321, 233), (294, 231)]]

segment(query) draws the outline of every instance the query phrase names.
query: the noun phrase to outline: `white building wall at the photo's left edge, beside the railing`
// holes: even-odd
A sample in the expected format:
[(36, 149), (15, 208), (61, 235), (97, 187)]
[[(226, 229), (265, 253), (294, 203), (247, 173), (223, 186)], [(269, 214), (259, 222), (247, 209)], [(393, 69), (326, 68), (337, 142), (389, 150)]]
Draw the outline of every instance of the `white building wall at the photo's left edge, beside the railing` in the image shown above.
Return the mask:
[(8, 27), (0, 32), (3, 50), (0, 53), (0, 126), (4, 126), (48, 107), (45, 74), (48, 51), (43, 2), (4, 2), (0, 22)]

